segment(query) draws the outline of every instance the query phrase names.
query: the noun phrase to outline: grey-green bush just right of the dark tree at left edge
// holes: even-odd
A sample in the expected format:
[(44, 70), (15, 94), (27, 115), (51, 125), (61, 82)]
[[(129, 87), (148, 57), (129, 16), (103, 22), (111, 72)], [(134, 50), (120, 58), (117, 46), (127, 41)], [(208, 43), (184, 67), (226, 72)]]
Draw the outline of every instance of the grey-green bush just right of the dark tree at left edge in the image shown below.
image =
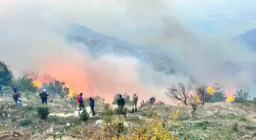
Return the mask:
[(14, 80), (13, 85), (17, 86), (21, 91), (37, 92), (37, 87), (33, 85), (33, 79), (27, 76), (22, 76), (21, 78)]

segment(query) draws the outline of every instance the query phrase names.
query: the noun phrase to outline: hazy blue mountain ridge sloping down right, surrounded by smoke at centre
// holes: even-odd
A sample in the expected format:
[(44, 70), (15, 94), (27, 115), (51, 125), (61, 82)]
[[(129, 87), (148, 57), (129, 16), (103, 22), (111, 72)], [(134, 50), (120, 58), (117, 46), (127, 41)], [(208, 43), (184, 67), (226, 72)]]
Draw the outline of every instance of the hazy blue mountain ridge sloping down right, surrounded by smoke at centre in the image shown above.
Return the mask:
[[(66, 39), (70, 43), (79, 43), (88, 48), (91, 54), (116, 54), (117, 56), (132, 56), (141, 61), (146, 61), (151, 64), (155, 70), (166, 74), (174, 73), (170, 66), (171, 59), (162, 59), (157, 54), (148, 52), (140, 46), (131, 45), (128, 42), (112, 36), (106, 36), (102, 33), (94, 32), (86, 26), (81, 26), (76, 23), (68, 24), (69, 33)], [(166, 61), (168, 60), (168, 62)]]

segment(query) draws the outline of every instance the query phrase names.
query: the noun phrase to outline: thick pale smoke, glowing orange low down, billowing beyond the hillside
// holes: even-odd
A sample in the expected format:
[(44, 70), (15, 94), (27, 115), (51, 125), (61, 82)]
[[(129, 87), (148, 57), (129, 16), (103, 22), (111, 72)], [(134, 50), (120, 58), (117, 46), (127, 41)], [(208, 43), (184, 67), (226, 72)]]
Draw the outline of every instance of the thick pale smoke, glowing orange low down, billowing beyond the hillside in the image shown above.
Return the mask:
[[(136, 32), (136, 39), (131, 39), (136, 40), (134, 43), (145, 45), (146, 51), (167, 55), (198, 83), (220, 82), (229, 89), (254, 91), (251, 77), (255, 54), (232, 43), (229, 36), (201, 35), (187, 29), (176, 16), (176, 4), (175, 0), (2, 1), (0, 59), (16, 76), (27, 69), (49, 73), (75, 92), (101, 95), (107, 101), (117, 92), (136, 92), (141, 99), (154, 95), (166, 101), (163, 90), (189, 81), (187, 76), (165, 76), (136, 58), (110, 54), (91, 58), (86, 50), (67, 45), (63, 38), (69, 22), (121, 39), (131, 39), (124, 31), (136, 24), (147, 28)], [(238, 72), (231, 73), (227, 63)]]

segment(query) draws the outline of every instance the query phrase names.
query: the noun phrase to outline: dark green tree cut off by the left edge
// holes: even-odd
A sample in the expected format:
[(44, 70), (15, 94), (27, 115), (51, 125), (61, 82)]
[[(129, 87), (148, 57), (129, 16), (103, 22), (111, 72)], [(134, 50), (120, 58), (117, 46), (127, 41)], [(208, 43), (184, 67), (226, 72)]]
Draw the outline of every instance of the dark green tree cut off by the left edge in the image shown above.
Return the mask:
[(0, 85), (10, 86), (13, 74), (9, 67), (2, 61), (0, 61)]

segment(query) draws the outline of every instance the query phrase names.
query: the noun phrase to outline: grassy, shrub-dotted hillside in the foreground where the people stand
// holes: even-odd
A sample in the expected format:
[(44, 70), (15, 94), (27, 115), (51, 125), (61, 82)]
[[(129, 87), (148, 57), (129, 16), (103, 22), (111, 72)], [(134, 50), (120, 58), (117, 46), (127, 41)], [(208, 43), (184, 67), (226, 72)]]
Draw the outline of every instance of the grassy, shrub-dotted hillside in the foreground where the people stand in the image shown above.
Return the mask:
[[(116, 113), (116, 106), (106, 109), (101, 101), (96, 101), (96, 117), (90, 115), (89, 120), (84, 122), (78, 117), (76, 99), (66, 104), (64, 98), (51, 96), (48, 104), (50, 115), (46, 120), (41, 120), (37, 115), (37, 109), (41, 106), (37, 94), (24, 93), (23, 100), (24, 106), (16, 108), (11, 96), (0, 98), (0, 139), (117, 139), (118, 135), (128, 135), (126, 132), (132, 128), (142, 129), (144, 126), (156, 129), (162, 136), (167, 132), (165, 135), (175, 137), (171, 139), (256, 139), (255, 105), (224, 102), (206, 104), (200, 105), (193, 114), (190, 106), (155, 104), (139, 107), (136, 114), (128, 113), (123, 118), (123, 115)], [(127, 107), (130, 110), (130, 105)], [(113, 110), (113, 114), (110, 114), (110, 110)], [(150, 126), (152, 124), (164, 124), (165, 127)], [(122, 132), (118, 134), (120, 130)], [(135, 132), (136, 135), (139, 133)], [(146, 140), (150, 133), (145, 132), (143, 135), (146, 138), (131, 139)], [(120, 139), (127, 139), (127, 136)]]

